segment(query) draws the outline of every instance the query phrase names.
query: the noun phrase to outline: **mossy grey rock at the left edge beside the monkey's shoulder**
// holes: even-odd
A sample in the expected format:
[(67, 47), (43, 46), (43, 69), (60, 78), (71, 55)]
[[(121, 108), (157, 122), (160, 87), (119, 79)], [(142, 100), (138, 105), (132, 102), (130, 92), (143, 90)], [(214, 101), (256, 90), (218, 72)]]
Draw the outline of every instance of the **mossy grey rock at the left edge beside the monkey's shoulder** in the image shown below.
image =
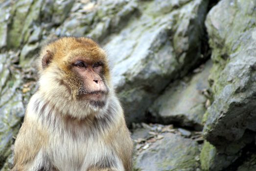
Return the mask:
[(11, 154), (11, 145), (24, 115), (22, 103), (21, 74), (11, 62), (14, 52), (0, 54), (0, 168)]

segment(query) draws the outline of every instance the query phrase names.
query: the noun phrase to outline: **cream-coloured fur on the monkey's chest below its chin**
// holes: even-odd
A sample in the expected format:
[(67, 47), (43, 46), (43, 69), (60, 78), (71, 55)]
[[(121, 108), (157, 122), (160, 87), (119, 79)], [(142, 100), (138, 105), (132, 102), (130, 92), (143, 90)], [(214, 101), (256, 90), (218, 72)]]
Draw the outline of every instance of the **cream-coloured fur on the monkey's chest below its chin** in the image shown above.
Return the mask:
[[(47, 157), (51, 165), (60, 171), (87, 171), (93, 166), (115, 165), (118, 171), (124, 171), (123, 164), (112, 147), (112, 138), (109, 134), (113, 133), (112, 124), (106, 124), (107, 121), (94, 120), (75, 121), (71, 118), (61, 119), (62, 116), (45, 102), (38, 101), (34, 95), (31, 98), (31, 104), (28, 105), (28, 113), (31, 122), (35, 122), (42, 132), (47, 132), (47, 148), (42, 147), (38, 152), (34, 168), (37, 168), (38, 162)], [(44, 114), (39, 111), (44, 108)], [(40, 116), (40, 117), (38, 117)], [(115, 119), (114, 119), (115, 118)], [(111, 120), (118, 123), (118, 116)], [(85, 123), (84, 123), (85, 122)], [(104, 125), (105, 124), (105, 125)], [(108, 128), (106, 128), (108, 127)], [(108, 130), (108, 131), (105, 131)], [(114, 140), (115, 141), (115, 140)], [(49, 148), (48, 148), (49, 147)]]

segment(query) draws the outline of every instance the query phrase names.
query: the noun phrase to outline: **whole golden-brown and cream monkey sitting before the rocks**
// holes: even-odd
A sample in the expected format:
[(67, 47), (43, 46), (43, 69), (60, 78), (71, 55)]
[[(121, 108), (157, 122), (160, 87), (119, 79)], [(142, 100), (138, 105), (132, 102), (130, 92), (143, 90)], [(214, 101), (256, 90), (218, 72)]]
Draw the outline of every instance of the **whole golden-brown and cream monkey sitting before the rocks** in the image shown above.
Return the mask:
[(61, 37), (36, 64), (12, 171), (131, 171), (133, 143), (106, 52), (90, 38)]

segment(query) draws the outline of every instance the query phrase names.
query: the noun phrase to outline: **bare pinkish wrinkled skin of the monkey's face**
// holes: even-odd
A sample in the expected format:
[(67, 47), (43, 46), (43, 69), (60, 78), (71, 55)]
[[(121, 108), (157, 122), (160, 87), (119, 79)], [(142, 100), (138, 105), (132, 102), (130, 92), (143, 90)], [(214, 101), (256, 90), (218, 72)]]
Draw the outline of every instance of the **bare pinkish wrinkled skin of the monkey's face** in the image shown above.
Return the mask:
[(109, 89), (105, 83), (103, 67), (101, 61), (90, 62), (83, 58), (73, 60), (71, 71), (82, 83), (77, 92), (78, 99), (90, 101), (94, 106), (104, 106)]

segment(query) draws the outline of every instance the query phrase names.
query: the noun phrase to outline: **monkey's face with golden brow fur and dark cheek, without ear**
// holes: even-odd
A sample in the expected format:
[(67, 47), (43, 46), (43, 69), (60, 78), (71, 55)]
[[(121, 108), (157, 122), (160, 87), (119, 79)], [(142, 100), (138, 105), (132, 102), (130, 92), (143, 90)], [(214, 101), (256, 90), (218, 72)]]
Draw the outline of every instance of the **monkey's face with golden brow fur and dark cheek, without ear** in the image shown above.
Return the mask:
[(66, 90), (76, 101), (104, 107), (109, 94), (108, 64), (99, 47), (84, 46), (70, 50), (58, 64), (63, 70)]

